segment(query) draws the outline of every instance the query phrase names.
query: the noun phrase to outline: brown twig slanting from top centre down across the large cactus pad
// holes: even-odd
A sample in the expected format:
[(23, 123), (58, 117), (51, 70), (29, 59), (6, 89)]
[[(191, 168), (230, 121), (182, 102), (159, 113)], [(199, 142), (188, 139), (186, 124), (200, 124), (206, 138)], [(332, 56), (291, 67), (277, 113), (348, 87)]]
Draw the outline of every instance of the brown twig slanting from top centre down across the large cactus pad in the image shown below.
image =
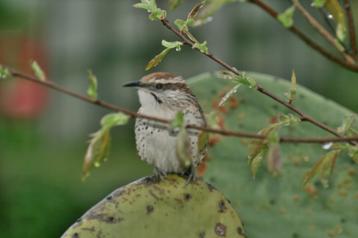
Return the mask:
[[(175, 32), (176, 35), (178, 35), (182, 40), (184, 40), (188, 45), (193, 46), (193, 42), (189, 41), (181, 32), (177, 31), (176, 29), (174, 29), (174, 27), (172, 27), (168, 20), (166, 19), (162, 19), (161, 22), (163, 22), (163, 25), (165, 25), (168, 29), (172, 30)], [(222, 66), (224, 66), (226, 69), (230, 70), (231, 72), (233, 72), (236, 75), (240, 75), (242, 76), (241, 73), (239, 73), (238, 71), (236, 71), (235, 69), (233, 69), (231, 66), (227, 65), (226, 63), (224, 63), (222, 60), (219, 60), (217, 57), (214, 57), (212, 54), (205, 54), (207, 56), (209, 56), (211, 59), (215, 60), (216, 62), (218, 62), (219, 64), (221, 64)], [(286, 102), (284, 100), (282, 100), (281, 98), (275, 96), (273, 93), (267, 91), (265, 88), (263, 88), (260, 85), (256, 85), (256, 89), (264, 94), (266, 94), (267, 96), (273, 98), (274, 100), (276, 100), (277, 102), (281, 103), (282, 105), (290, 108), (292, 111), (296, 112), (298, 115), (300, 115), (302, 118), (302, 121), (309, 121), (311, 123), (313, 123), (314, 125), (322, 128), (325, 131), (328, 131), (330, 133), (332, 133), (333, 135), (339, 137), (339, 138), (344, 138), (345, 136), (343, 136), (342, 134), (338, 133), (337, 131), (333, 130), (332, 128), (324, 125), (323, 123), (313, 119), (312, 117), (309, 117), (308, 115), (306, 115), (305, 113), (303, 113), (302, 111), (300, 111), (298, 108), (296, 108), (295, 106), (293, 106), (292, 104), (290, 104), (289, 102)]]

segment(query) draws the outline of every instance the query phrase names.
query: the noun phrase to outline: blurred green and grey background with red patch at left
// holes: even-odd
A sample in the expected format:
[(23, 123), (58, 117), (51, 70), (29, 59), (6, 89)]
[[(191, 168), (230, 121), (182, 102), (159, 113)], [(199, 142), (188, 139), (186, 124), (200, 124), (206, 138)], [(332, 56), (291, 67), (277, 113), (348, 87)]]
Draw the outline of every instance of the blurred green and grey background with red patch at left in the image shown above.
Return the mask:
[[(91, 68), (100, 100), (134, 111), (139, 107), (135, 90), (122, 88), (124, 82), (155, 71), (188, 78), (223, 70), (184, 45), (146, 72), (147, 62), (164, 49), (161, 40), (179, 38), (161, 22), (150, 21), (145, 10), (132, 7), (138, 2), (0, 0), (0, 63), (32, 74), (29, 61), (35, 59), (49, 79), (81, 94)], [(174, 11), (168, 1), (157, 0), (157, 5), (168, 10), (174, 25), (198, 2), (187, 0)], [(265, 2), (279, 12), (291, 6), (288, 0)], [(311, 1), (301, 2), (322, 19), (309, 7)], [(357, 16), (358, 2), (351, 2)], [(332, 49), (298, 12), (294, 21)], [(298, 83), (357, 111), (357, 73), (311, 50), (255, 5), (226, 5), (211, 22), (190, 31), (239, 70), (290, 79), (294, 68)], [(81, 181), (88, 134), (99, 129), (108, 112), (31, 82), (0, 81), (0, 237), (59, 237), (108, 193), (151, 174), (153, 167), (136, 155), (132, 120), (112, 130), (108, 161)]]

